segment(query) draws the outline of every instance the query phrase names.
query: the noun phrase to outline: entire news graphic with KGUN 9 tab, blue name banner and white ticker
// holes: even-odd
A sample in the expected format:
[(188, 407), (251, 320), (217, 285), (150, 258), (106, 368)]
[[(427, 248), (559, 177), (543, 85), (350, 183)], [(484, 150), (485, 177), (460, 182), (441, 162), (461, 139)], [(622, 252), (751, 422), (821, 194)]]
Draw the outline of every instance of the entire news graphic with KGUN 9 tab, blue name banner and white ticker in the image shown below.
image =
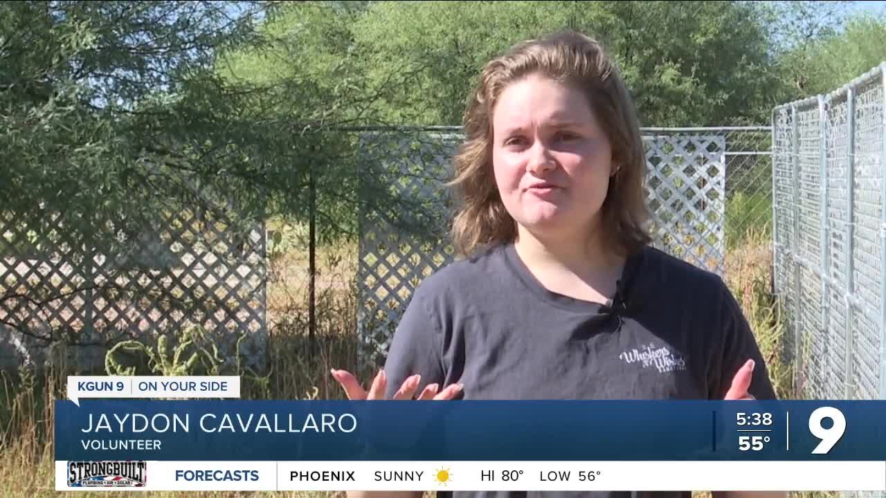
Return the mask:
[(886, 401), (245, 401), (71, 377), (56, 489), (886, 493)]

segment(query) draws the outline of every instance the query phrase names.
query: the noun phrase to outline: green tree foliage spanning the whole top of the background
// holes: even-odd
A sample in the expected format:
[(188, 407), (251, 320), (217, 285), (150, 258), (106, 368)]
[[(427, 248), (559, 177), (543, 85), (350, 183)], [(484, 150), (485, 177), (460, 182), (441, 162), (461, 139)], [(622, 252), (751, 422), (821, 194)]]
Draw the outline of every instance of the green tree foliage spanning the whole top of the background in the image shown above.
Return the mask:
[[(184, 210), (215, 212), (236, 228), (275, 214), (304, 223), (314, 209), (328, 242), (356, 233), (366, 199), (391, 213), (430, 209), (392, 192), (391, 178), (367, 167), (365, 135), (341, 128), (457, 125), (482, 64), (513, 43), (565, 27), (600, 38), (648, 126), (760, 122), (773, 95), (796, 96), (799, 71), (814, 80), (804, 91), (830, 88), (880, 55), (882, 22), (859, 20), (838, 35), (825, 10), (694, 1), (4, 3), (2, 209), (43, 245), (82, 253), (131, 245), (158, 213)], [(55, 213), (64, 237), (49, 237)]]

